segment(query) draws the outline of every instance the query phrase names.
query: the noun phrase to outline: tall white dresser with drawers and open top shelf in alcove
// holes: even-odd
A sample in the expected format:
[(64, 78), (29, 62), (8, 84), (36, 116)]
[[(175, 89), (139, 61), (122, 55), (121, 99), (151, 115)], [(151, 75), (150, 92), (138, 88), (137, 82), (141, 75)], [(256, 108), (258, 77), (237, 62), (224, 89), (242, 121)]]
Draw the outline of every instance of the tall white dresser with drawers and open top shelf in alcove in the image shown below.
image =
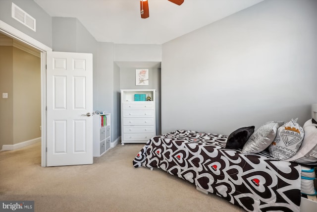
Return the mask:
[[(155, 93), (154, 89), (121, 90), (122, 145), (146, 143), (156, 135)], [(147, 98), (151, 98), (151, 101), (147, 101)]]

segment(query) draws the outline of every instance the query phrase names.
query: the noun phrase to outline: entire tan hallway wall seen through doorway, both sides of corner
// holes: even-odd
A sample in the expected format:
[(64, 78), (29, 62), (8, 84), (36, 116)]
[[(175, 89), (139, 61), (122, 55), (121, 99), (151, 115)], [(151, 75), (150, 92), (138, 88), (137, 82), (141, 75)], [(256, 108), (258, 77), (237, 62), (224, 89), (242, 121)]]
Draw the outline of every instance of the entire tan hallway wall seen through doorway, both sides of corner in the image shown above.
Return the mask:
[(41, 137), (41, 59), (0, 46), (0, 95), (0, 149)]

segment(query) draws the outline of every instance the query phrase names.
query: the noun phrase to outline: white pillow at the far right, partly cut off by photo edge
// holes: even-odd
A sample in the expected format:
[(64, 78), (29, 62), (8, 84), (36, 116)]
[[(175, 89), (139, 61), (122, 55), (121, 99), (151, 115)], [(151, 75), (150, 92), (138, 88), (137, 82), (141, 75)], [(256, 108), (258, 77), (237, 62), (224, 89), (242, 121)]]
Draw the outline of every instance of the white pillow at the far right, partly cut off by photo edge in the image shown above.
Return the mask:
[(310, 119), (303, 126), (305, 137), (298, 152), (287, 161), (303, 164), (317, 164), (317, 122)]

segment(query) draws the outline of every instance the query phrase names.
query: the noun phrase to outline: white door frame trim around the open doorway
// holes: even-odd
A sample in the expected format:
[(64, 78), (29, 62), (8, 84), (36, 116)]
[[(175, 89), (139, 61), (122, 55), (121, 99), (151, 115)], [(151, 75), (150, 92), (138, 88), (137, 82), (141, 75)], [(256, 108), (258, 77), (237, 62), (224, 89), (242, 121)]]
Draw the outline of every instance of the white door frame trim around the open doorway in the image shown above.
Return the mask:
[(39, 51), (41, 51), (41, 166), (47, 166), (47, 96), (46, 96), (46, 52), (52, 52), (52, 48), (35, 40), (20, 30), (0, 20), (0, 32), (17, 39)]

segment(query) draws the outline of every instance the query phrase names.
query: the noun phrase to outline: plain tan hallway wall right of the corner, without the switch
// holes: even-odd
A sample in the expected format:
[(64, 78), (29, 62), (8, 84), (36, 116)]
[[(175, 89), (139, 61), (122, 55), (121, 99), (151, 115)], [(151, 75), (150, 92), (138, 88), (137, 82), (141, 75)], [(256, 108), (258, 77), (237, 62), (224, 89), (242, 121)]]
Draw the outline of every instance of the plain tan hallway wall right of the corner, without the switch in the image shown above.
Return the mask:
[(13, 143), (41, 137), (41, 60), (13, 48)]

